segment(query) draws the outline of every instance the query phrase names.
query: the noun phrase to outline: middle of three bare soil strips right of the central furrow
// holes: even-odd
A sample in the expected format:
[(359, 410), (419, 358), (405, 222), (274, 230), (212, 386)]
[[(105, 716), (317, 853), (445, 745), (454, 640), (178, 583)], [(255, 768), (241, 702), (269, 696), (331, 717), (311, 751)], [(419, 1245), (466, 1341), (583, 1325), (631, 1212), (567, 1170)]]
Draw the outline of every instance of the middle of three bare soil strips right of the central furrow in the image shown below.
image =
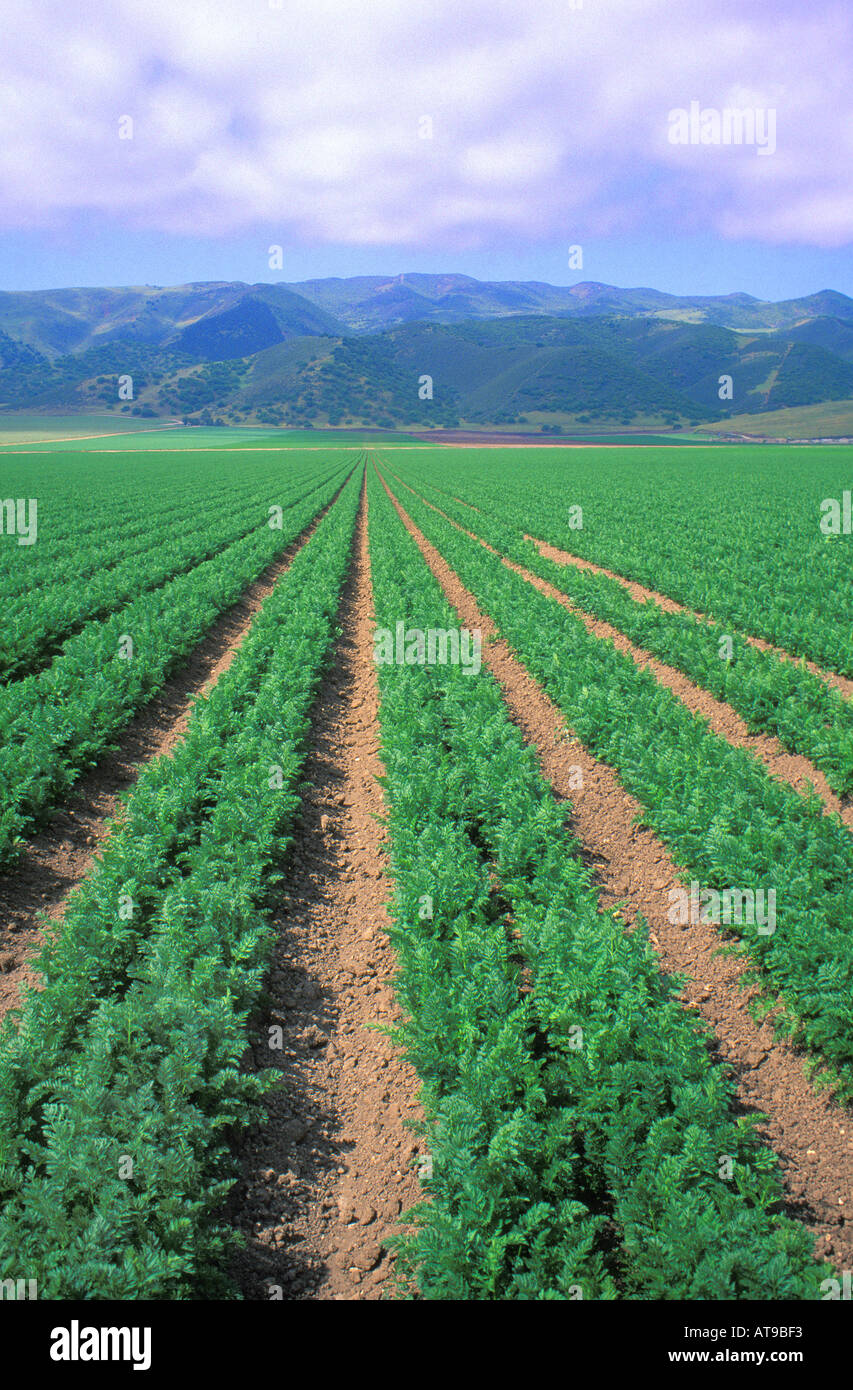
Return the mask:
[[(408, 484), (403, 484), (403, 486), (408, 486)], [(421, 498), (414, 488), (410, 488), (408, 491)], [(545, 594), (546, 598), (554, 599), (557, 603), (561, 603), (564, 609), (568, 609), (568, 612), (575, 617), (581, 619), (583, 627), (592, 637), (613, 642), (617, 651), (629, 656), (636, 666), (647, 667), (661, 685), (665, 685), (667, 689), (672, 691), (682, 705), (686, 705), (692, 714), (700, 714), (704, 720), (707, 720), (711, 730), (720, 738), (725, 738), (725, 741), (732, 744), (734, 748), (745, 748), (756, 758), (760, 758), (771, 777), (775, 777), (778, 781), (788, 783), (789, 787), (793, 787), (795, 791), (799, 792), (807, 791), (810, 785), (814, 787), (814, 791), (824, 803), (827, 815), (835, 813), (836, 816), (840, 816), (847, 830), (853, 830), (853, 798), (845, 796), (842, 799), (840, 796), (836, 796), (824, 773), (815, 767), (813, 762), (803, 758), (800, 753), (788, 752), (779, 739), (772, 738), (770, 734), (753, 734), (746, 724), (746, 720), (740, 719), (731, 705), (715, 699), (707, 691), (695, 685), (693, 681), (690, 681), (682, 671), (677, 670), (675, 666), (667, 666), (664, 662), (660, 662), (656, 656), (653, 656), (652, 652), (647, 652), (642, 646), (635, 646), (635, 644), (627, 638), (624, 632), (620, 632), (620, 630), (613, 627), (610, 623), (603, 623), (599, 619), (590, 617), (589, 613), (585, 613), (583, 609), (572, 603), (565, 594), (554, 588), (553, 584), (549, 584), (547, 580), (540, 580), (538, 574), (533, 574), (531, 570), (525, 570), (524, 566), (510, 560), (506, 555), (500, 555), (500, 552), (488, 545), (486, 541), (475, 535), (472, 531), (467, 531), (465, 527), (461, 527), (458, 521), (454, 521), (453, 517), (447, 516), (446, 512), (442, 512), (440, 507), (436, 507), (435, 503), (428, 502), (426, 498), (421, 498), (421, 502), (425, 502), (428, 507), (432, 507), (432, 510), (438, 512), (446, 521), (450, 521), (457, 531), (463, 531), (463, 534), (470, 537), (472, 541), (478, 541), (483, 549), (496, 555), (508, 570), (514, 570), (515, 574), (520, 574), (528, 581), (528, 584), (532, 584), (533, 588), (539, 589), (540, 594)]]

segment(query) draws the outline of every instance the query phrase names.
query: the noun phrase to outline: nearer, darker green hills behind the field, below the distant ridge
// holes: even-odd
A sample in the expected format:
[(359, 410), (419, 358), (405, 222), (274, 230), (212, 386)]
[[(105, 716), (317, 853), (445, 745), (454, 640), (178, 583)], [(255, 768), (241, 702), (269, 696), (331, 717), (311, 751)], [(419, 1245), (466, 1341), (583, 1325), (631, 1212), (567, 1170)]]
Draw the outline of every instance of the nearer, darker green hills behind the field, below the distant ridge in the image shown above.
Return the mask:
[[(100, 341), (49, 360), (0, 336), (0, 409), (297, 427), (720, 423), (853, 398), (853, 325), (807, 328), (508, 316), (281, 338), (275, 307), (245, 296), (164, 345)], [(119, 375), (133, 378), (132, 403), (119, 400)], [(731, 400), (720, 399), (725, 377)]]

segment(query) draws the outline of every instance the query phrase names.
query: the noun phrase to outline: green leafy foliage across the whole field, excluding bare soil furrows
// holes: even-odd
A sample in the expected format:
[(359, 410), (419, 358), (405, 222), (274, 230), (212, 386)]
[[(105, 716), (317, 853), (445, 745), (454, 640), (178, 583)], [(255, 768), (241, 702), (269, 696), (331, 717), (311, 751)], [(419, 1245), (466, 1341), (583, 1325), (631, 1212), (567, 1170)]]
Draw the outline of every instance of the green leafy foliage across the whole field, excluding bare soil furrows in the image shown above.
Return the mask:
[[(32, 543), (17, 543), (15, 507), (0, 512), (0, 891), (215, 624), (256, 580), (268, 585), (169, 752), (139, 764), (42, 942), (42, 987), (24, 990), (0, 1029), (0, 1275), (25, 1269), (51, 1300), (236, 1297), (229, 1202), (246, 1134), (278, 1123), (261, 1106), (271, 1090), (288, 1123), (307, 1113), (304, 1097), (282, 1093), (278, 1062), (249, 1058), (279, 1017), (267, 970), (283, 944), (276, 910), (300, 872), (295, 827), (318, 791), (306, 780), (311, 741), (326, 759), (338, 752), (339, 724), (322, 724), (317, 695), (325, 676), (326, 699), (331, 688), (364, 717), (363, 692), (338, 680), (338, 644), (360, 644), (364, 678), (376, 681), (388, 867), (378, 855), (358, 860), (361, 830), (336, 834), (347, 902), (360, 874), (388, 874), (393, 1036), (418, 1079), (431, 1155), (426, 1200), (399, 1248), (399, 1291), (820, 1300), (832, 1270), (815, 1254), (811, 1212), (793, 1211), (732, 1068), (661, 967), (643, 916), (649, 887), (631, 885), (640, 909), (627, 930), (599, 877), (613, 867), (610, 821), (577, 828), (583, 788), (567, 798), (549, 780), (489, 662), (465, 669), (447, 656), (460, 600), (389, 491), (550, 698), (554, 746), (577, 739), (618, 780), (678, 883), (772, 895), (770, 931), (767, 916), (740, 916), (718, 924), (718, 942), (750, 967), (754, 1008), (771, 1017), (767, 1052), (792, 1044), (842, 1123), (853, 1099), (850, 826), (583, 617), (847, 798), (853, 706), (825, 677), (853, 678), (853, 538), (820, 525), (824, 499), (850, 486), (846, 455), (453, 449), (404, 435), (375, 445), (357, 431), (201, 428), (156, 445), (97, 443), (0, 457), (0, 498), (38, 502)], [(545, 559), (531, 538), (684, 610)], [(358, 566), (374, 617), (370, 638), (356, 639), (347, 578)], [(376, 659), (376, 632), (400, 624), (414, 642)], [(447, 638), (443, 657), (424, 655), (424, 632)], [(346, 803), (329, 785), (333, 805)], [(314, 887), (333, 872), (328, 842), (317, 849)], [(333, 1040), (335, 1011), (317, 1011)], [(740, 1065), (742, 1040), (722, 1041)], [(785, 1097), (768, 1104), (786, 1122)], [(370, 1122), (381, 1127), (381, 1113)], [(347, 1172), (346, 1150), (338, 1155)], [(821, 1163), (818, 1152), (818, 1197)], [(843, 1225), (835, 1241), (840, 1269)]]

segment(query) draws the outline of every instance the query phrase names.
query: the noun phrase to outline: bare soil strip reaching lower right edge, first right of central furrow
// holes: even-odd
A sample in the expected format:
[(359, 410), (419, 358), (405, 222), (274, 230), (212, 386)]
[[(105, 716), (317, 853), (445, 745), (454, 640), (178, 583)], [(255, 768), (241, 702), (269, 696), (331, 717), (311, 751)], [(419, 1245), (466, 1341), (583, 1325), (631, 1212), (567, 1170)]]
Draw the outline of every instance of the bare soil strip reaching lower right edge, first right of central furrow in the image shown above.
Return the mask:
[[(749, 1001), (757, 990), (739, 983), (745, 960), (717, 954), (718, 930), (710, 923), (681, 927), (668, 922), (668, 888), (679, 883), (678, 870), (663, 842), (638, 826), (642, 806), (613, 769), (592, 758), (567, 730), (553, 701), (507, 642), (495, 637), (495, 624), (475, 598), (390, 491), (389, 496), (461, 623), (481, 630), (483, 660), (503, 689), (513, 721), (535, 746), (542, 774), (560, 801), (571, 802), (571, 828), (586, 847), (602, 908), (618, 905), (629, 927), (642, 915), (661, 969), (688, 977), (681, 999), (714, 1030), (710, 1042), (734, 1074), (742, 1113), (765, 1116), (759, 1133), (779, 1155), (785, 1211), (811, 1227), (818, 1255), (850, 1269), (853, 1115), (827, 1093), (814, 1093), (803, 1074), (803, 1055), (774, 1038), (770, 1019), (761, 1026), (753, 1020)], [(582, 790), (571, 785), (578, 769)]]

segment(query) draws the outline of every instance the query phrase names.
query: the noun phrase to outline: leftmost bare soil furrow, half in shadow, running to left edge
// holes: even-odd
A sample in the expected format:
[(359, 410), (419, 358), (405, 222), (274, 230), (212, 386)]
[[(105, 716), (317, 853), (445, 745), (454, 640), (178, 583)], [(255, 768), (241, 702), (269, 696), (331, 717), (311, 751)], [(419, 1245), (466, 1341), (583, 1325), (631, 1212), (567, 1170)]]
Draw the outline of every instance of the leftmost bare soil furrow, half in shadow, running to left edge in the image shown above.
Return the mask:
[(65, 805), (28, 841), (18, 863), (0, 874), (0, 1019), (17, 1005), (22, 981), (38, 984), (29, 962), (44, 930), (40, 915), (61, 922), (68, 894), (90, 872), (110, 823), (121, 812), (121, 798), (146, 763), (168, 753), (183, 737), (194, 701), (228, 670), (261, 603), (338, 495), (217, 619), (160, 694), (131, 720), (117, 751), (75, 783)]

